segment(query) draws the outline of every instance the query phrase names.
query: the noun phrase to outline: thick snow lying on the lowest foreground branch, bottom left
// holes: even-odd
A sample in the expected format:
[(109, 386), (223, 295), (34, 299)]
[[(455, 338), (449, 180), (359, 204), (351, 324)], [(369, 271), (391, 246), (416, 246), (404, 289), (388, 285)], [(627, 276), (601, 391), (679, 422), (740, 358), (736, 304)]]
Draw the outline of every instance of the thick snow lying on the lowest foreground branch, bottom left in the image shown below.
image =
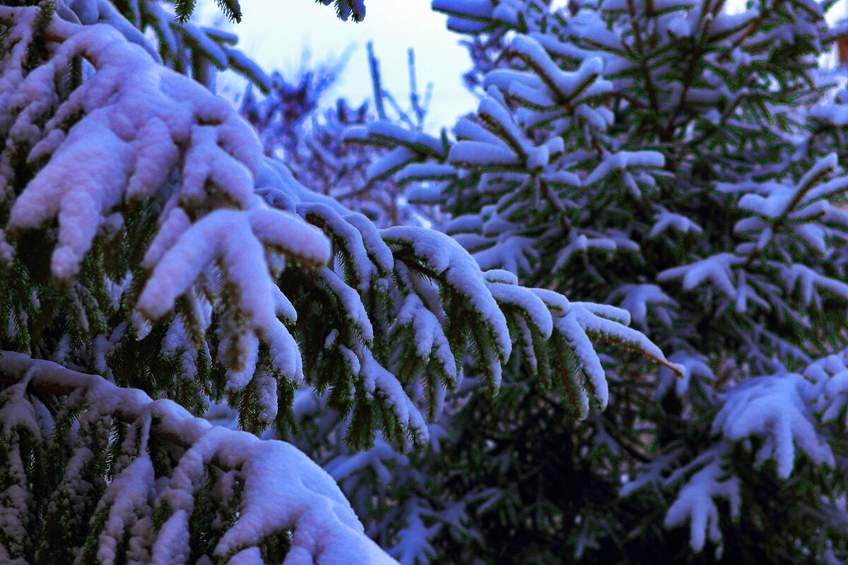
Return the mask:
[[(285, 442), (259, 440), (247, 432), (213, 426), (203, 418), (192, 417), (174, 402), (152, 401), (141, 391), (121, 389), (97, 375), (77, 373), (21, 353), (4, 352), (0, 371), (6, 378), (19, 380), (19, 385), (4, 394), (23, 392), (27, 385), (36, 390), (46, 387), (53, 391), (81, 391), (84, 394), (76, 398), (84, 399), (82, 406), (87, 407), (81, 415), (87, 418), (84, 425), (101, 425), (106, 422), (106, 414), (132, 423), (121, 448), (118, 473), (98, 502), (98, 509), (107, 512), (98, 536), (98, 558), (103, 562), (112, 562), (116, 541), (124, 538), (126, 529), (135, 538), (131, 546), (135, 544), (139, 551), (149, 546), (151, 553), (146, 561), (161, 565), (185, 562), (188, 518), (203, 486), (205, 466), (211, 464), (224, 471), (222, 481), (235, 479), (244, 486), (237, 520), (215, 547), (216, 558), (241, 551), (242, 562), (261, 565), (259, 551), (251, 548), (257, 548), (267, 535), (292, 531), (287, 562), (397, 565), (365, 535), (335, 480)], [(23, 400), (13, 406), (20, 413), (33, 405)], [(20, 423), (20, 418), (9, 419), (11, 416), (0, 410), (4, 426)], [(39, 429), (38, 422), (31, 418), (25, 425)], [(158, 482), (145, 448), (148, 435), (171, 441), (178, 438), (185, 448), (172, 451), (178, 463), (170, 476), (163, 478), (161, 488), (155, 486)], [(69, 466), (73, 464), (72, 461)], [(152, 528), (150, 511), (165, 501), (170, 506), (170, 516), (157, 531)], [(141, 546), (137, 545), (139, 541)]]

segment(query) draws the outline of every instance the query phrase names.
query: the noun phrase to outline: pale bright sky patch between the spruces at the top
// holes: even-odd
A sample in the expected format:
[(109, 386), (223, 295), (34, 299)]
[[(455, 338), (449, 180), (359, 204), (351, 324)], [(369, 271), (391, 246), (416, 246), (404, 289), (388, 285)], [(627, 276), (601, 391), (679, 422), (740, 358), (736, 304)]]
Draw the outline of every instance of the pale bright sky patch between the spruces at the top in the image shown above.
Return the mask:
[[(285, 76), (298, 69), (304, 48), (310, 49), (314, 62), (321, 62), (338, 58), (353, 45), (342, 80), (326, 103), (342, 95), (351, 102), (371, 98), (365, 43), (373, 41), (383, 88), (399, 102), (409, 96), (406, 50), (415, 49), (421, 94), (427, 82), (433, 83), (428, 130), (453, 125), (457, 115), (477, 107), (476, 99), (462, 85), (461, 75), (471, 68), (471, 62), (457, 43), (460, 36), (445, 28), (446, 17), (432, 12), (429, 0), (366, 0), (365, 5), (365, 21), (356, 24), (339, 20), (332, 6), (312, 0), (243, 0), (242, 22), (226, 27), (237, 33), (239, 46), (265, 70), (279, 69)], [(199, 12), (203, 23), (220, 14), (212, 2)], [(220, 86), (243, 88), (242, 83), (226, 77), (219, 81)]]

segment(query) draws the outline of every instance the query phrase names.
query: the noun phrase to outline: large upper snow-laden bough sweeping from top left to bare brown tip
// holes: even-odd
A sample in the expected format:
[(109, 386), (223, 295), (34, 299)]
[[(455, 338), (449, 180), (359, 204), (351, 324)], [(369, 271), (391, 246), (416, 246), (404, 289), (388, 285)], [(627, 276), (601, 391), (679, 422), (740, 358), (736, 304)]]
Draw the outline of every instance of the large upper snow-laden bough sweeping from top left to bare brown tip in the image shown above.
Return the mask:
[[(332, 407), (353, 411), (349, 440), (359, 446), (370, 443), (376, 424), (398, 441), (426, 440), (404, 385), (424, 379), (435, 416), (466, 352), (494, 391), (513, 340), (522, 341), (533, 371), (557, 360), (555, 379), (546, 380), (571, 391), (577, 414), (586, 415), (590, 400), (605, 406), (603, 370), (586, 336), (597, 325), (588, 307), (550, 292), (541, 301), (520, 287), (506, 292), (504, 280), (486, 281), (449, 237), (378, 231), (298, 186), (261, 156), (253, 131), (226, 102), (107, 26), (38, 24), (36, 8), (3, 15), (14, 22), (10, 41), (18, 40), (0, 99), (14, 116), (0, 130), (8, 138), (0, 173), (14, 197), (6, 199), (3, 228), (6, 276), (23, 273), (34, 286), (3, 289), (9, 337), (20, 351), (80, 359), (92, 340), (88, 363), (120, 385), (155, 368), (164, 374), (147, 392), (177, 395), (198, 413), (207, 396), (235, 395), (243, 428), (252, 431), (274, 420), (279, 398), (287, 408), (305, 378), (331, 389)], [(57, 44), (24, 74), (22, 47), (34, 25)], [(77, 57), (92, 74), (55, 91)], [(16, 252), (30, 237), (53, 248), (49, 265)], [(75, 349), (64, 335), (49, 335), (59, 313), (86, 336)], [(603, 333), (663, 359), (625, 328), (626, 316), (613, 318)], [(399, 349), (389, 347), (392, 335), (402, 336)], [(432, 343), (429, 352), (423, 343)], [(413, 344), (417, 355), (399, 355)]]

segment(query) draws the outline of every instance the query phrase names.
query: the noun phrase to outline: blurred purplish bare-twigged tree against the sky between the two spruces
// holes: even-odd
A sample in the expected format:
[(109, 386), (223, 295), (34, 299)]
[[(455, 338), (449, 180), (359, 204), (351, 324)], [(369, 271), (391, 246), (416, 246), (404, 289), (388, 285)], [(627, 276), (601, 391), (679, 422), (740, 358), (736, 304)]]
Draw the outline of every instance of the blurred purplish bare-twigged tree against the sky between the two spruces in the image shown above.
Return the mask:
[(391, 170), (374, 169), (387, 149), (343, 141), (347, 128), (375, 119), (401, 125), (410, 133), (421, 133), (427, 115), (432, 83), (421, 95), (413, 51), (408, 52), (409, 105), (402, 108), (390, 92), (382, 89), (379, 61), (371, 43), (367, 48), (377, 115), (369, 112), (367, 102), (352, 108), (343, 97), (338, 98), (335, 108), (319, 111), (322, 95), (343, 70), (344, 56), (340, 61), (326, 61), (311, 69), (302, 64), (292, 80), (275, 72), (272, 75), (275, 86), (265, 97), (257, 97), (248, 86), (240, 113), (256, 128), (265, 154), (280, 158), (294, 178), (310, 190), (332, 196), (380, 227), (432, 224), (436, 214), (432, 207), (411, 204), (403, 191), (388, 179)]

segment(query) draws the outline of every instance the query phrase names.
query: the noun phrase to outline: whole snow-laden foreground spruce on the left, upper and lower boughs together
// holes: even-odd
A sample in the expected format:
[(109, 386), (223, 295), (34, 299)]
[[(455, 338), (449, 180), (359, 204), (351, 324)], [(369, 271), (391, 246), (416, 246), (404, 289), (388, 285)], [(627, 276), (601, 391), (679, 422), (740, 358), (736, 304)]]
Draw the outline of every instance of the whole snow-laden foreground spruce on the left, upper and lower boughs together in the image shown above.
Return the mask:
[(580, 417), (608, 402), (590, 338), (683, 372), (619, 308), (300, 186), (204, 86), (235, 40), (159, 9), (0, 8), (0, 560), (393, 562), (321, 468), (256, 437), (288, 433), (299, 386), (350, 446), (409, 447), (513, 350)]

